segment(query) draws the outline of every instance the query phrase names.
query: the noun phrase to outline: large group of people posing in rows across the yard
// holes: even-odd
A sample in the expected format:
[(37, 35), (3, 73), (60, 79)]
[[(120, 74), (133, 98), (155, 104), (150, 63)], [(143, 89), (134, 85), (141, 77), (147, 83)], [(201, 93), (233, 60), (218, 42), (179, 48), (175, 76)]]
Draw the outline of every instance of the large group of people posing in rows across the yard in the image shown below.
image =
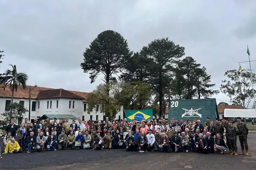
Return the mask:
[[(114, 119), (95, 123), (92, 120), (69, 122), (67, 118), (50, 122), (34, 119), (17, 128), (12, 120), (3, 135), (4, 153), (22, 153), (26, 150), (44, 152), (45, 150), (87, 149), (103, 150), (126, 148), (127, 151), (160, 152), (198, 152), (224, 154), (229, 148), (230, 155), (237, 155), (236, 139), (239, 136), (242, 152), (248, 155), (247, 125), (237, 118), (233, 120), (216, 118), (215, 123), (207, 118), (204, 124), (196, 118), (184, 121), (172, 118), (170, 122), (163, 118), (146, 121), (118, 121)], [(18, 140), (16, 141), (15, 138)], [(245, 151), (244, 151), (245, 149)], [(0, 155), (0, 158), (1, 155)]]

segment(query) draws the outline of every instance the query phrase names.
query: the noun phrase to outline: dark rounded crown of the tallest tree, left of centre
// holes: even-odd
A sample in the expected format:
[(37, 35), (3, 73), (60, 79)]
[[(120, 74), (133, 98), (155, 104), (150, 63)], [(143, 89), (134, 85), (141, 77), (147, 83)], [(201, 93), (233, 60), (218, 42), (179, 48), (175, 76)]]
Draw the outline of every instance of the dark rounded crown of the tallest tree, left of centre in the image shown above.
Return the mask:
[(90, 83), (95, 81), (99, 73), (105, 76), (103, 81), (109, 83), (131, 55), (128, 43), (122, 35), (107, 30), (91, 42), (90, 48), (86, 48), (81, 67), (85, 73), (90, 74)]

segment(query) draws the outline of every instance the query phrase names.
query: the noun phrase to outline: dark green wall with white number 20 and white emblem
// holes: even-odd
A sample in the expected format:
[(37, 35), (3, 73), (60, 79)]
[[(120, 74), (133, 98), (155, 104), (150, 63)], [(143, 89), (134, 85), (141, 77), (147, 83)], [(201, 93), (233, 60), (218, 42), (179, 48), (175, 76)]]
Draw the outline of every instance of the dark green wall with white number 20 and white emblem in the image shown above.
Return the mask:
[(219, 118), (215, 98), (172, 100), (170, 102), (169, 122), (172, 118), (177, 118), (178, 122), (180, 122), (180, 119), (183, 119), (183, 121), (187, 121), (188, 119), (194, 121), (196, 118), (204, 124), (207, 117), (214, 122), (215, 118)]

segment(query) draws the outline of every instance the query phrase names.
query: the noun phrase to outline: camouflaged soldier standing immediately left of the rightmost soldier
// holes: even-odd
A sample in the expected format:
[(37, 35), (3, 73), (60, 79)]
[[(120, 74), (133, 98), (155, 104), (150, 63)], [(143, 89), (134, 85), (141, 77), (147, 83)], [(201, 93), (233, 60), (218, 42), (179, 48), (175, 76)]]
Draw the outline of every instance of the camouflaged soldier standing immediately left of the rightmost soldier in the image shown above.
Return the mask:
[(233, 121), (228, 121), (228, 125), (228, 139), (230, 147), (232, 148), (232, 153), (230, 153), (230, 155), (237, 156), (236, 136), (238, 135), (238, 129), (233, 126)]

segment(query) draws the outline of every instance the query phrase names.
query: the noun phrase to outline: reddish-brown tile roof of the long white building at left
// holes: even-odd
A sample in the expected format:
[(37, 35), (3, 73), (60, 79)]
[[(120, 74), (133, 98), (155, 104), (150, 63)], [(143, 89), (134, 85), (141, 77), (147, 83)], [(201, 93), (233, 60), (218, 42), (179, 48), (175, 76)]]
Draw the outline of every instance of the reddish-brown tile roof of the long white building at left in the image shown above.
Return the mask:
[[(86, 102), (87, 92), (69, 91), (64, 89), (52, 89), (46, 87), (34, 87), (31, 86), (31, 98), (78, 98), (83, 99)], [(12, 91), (9, 85), (3, 90), (0, 88), (0, 97), (12, 97)], [(29, 86), (25, 89), (22, 86), (18, 86), (17, 92), (14, 92), (14, 98), (29, 98)]]

